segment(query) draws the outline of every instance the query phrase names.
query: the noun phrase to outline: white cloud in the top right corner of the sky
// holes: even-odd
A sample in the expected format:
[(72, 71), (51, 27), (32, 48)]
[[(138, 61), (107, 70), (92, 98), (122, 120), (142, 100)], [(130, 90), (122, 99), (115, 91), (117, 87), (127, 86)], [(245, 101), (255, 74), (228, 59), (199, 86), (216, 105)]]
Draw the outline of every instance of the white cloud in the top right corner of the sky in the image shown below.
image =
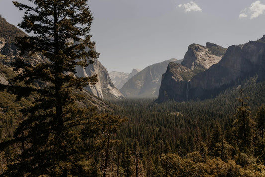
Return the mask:
[(248, 8), (242, 10), (239, 14), (239, 18), (250, 17), (250, 19), (257, 18), (265, 13), (265, 4), (261, 4), (260, 0), (253, 2)]

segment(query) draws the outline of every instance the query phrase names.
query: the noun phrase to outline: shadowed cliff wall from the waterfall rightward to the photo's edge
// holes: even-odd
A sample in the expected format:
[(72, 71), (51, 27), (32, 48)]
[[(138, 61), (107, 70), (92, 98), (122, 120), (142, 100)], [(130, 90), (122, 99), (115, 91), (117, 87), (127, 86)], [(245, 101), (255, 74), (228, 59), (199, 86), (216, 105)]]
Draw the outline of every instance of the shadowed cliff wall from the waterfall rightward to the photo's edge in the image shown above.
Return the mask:
[[(221, 90), (250, 76), (265, 76), (265, 43), (249, 42), (241, 49), (230, 46), (222, 60), (190, 81), (190, 99), (216, 96)], [(220, 90), (220, 91), (218, 91)]]

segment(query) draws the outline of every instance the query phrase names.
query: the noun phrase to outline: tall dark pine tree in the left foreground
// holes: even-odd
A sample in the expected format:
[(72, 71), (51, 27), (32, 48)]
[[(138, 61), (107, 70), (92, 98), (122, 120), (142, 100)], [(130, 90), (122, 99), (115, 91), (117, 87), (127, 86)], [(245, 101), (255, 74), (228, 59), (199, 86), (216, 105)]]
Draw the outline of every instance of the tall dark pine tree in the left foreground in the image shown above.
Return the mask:
[[(14, 147), (5, 176), (97, 176), (92, 154), (100, 146), (94, 138), (111, 126), (106, 119), (114, 119), (115, 126), (120, 120), (78, 104), (84, 98), (78, 90), (97, 80), (74, 75), (77, 65), (86, 67), (99, 55), (90, 50), (95, 43), (88, 0), (28, 1), (31, 6), (14, 5), (25, 11), (19, 26), (33, 36), (18, 39), (18, 76), (5, 88), (34, 101), (22, 110), (14, 138), (1, 143), (1, 149)], [(46, 62), (34, 62), (37, 56)]]

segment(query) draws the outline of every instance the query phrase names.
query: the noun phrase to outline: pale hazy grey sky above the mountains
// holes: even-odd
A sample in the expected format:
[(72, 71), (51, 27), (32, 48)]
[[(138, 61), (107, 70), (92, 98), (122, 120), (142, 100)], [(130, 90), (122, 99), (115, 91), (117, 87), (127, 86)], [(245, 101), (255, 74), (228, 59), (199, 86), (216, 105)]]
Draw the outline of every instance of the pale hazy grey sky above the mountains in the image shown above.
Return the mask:
[[(89, 0), (89, 5), (92, 39), (109, 72), (182, 59), (192, 43), (228, 47), (265, 34), (265, 0)], [(0, 0), (0, 14), (15, 25), (23, 16), (11, 0)]]

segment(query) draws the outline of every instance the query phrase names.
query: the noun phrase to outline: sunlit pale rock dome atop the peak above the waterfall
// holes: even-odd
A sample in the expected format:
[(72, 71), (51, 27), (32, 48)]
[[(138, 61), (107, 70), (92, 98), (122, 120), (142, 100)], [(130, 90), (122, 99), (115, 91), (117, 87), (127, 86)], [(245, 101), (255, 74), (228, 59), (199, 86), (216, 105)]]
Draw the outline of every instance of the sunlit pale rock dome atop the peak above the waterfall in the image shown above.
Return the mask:
[(209, 48), (199, 44), (191, 44), (181, 65), (199, 73), (218, 63), (222, 56), (222, 52), (218, 53), (218, 48), (225, 48), (212, 43), (207, 43), (207, 46)]

